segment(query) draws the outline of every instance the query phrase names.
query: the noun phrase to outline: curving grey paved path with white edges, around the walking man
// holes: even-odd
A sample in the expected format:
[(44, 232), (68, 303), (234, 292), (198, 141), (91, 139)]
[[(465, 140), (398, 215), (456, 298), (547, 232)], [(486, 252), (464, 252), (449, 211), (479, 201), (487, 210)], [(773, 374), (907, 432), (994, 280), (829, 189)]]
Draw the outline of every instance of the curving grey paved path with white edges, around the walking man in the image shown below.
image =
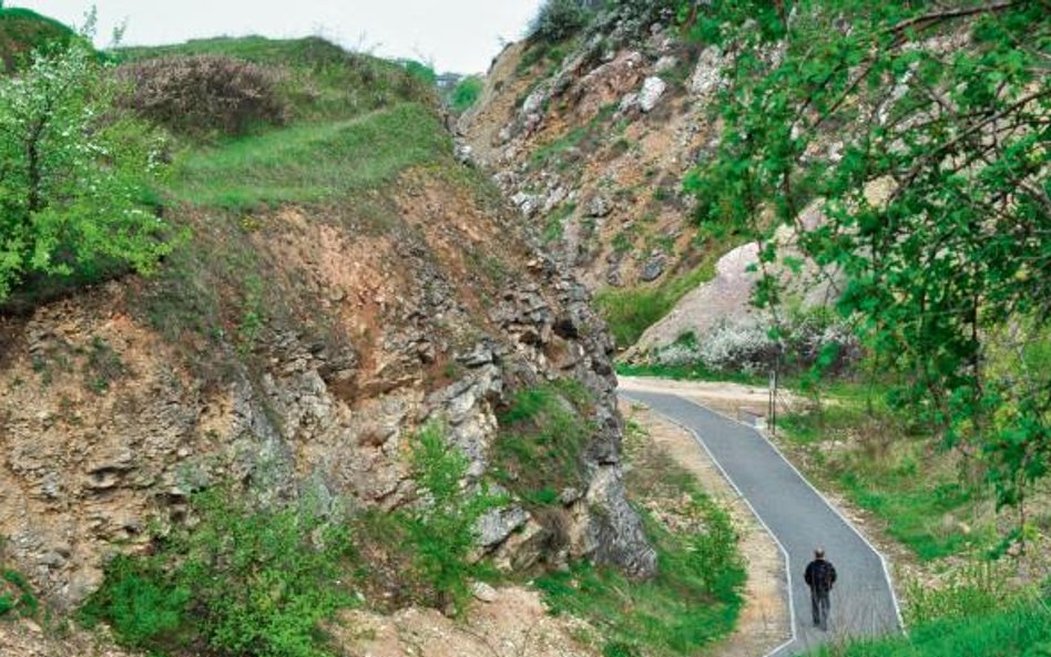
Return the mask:
[[(793, 639), (768, 657), (789, 657), (841, 636), (900, 630), (900, 614), (879, 553), (759, 432), (674, 393), (622, 386), (642, 402), (688, 429), (780, 544), (788, 564)], [(803, 572), (816, 545), (839, 573), (828, 632), (814, 627)]]

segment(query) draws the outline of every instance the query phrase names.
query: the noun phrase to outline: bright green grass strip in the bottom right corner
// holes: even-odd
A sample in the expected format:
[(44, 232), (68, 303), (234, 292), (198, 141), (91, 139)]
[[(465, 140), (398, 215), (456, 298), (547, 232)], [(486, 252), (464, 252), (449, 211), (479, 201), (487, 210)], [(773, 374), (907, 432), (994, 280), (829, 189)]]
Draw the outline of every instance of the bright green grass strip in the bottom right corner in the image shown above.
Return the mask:
[(834, 645), (810, 657), (1049, 657), (1051, 610), (1032, 602), (990, 615), (937, 620), (908, 638)]

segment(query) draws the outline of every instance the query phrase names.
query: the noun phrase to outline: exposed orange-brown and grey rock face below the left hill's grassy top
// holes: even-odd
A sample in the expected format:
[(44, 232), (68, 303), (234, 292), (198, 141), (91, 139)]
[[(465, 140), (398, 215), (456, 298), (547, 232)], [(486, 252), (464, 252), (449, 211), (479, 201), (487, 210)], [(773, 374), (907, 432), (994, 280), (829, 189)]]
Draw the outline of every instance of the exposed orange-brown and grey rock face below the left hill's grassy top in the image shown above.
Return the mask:
[[(585, 289), (519, 237), (513, 213), (428, 175), (399, 181), (381, 230), (338, 211), (265, 217), (245, 239), (274, 308), (251, 342), (222, 324), (166, 337), (151, 320), (165, 281), (134, 277), (0, 317), (0, 535), (49, 602), (78, 605), (112, 554), (144, 548), (205, 486), (410, 503), (406, 454), (429, 421), (481, 476), (498, 409), (555, 377), (596, 408), (575, 554), (653, 572), (619, 484), (612, 347)], [(486, 519), (483, 547), (513, 562), (509, 538), (530, 522), (516, 505)]]

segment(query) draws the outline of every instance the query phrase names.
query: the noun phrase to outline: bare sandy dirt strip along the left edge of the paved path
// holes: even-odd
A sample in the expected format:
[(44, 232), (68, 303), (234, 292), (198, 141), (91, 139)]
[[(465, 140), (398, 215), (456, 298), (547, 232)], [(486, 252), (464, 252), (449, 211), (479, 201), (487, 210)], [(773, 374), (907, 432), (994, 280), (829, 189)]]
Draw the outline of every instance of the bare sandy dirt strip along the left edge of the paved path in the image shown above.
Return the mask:
[(790, 637), (785, 591), (784, 557), (774, 540), (755, 520), (747, 505), (722, 476), (693, 434), (637, 403), (621, 402), (629, 420), (643, 425), (654, 445), (681, 468), (694, 474), (705, 490), (729, 510), (741, 534), (741, 551), (748, 573), (745, 604), (737, 630), (706, 653), (713, 657), (766, 655)]

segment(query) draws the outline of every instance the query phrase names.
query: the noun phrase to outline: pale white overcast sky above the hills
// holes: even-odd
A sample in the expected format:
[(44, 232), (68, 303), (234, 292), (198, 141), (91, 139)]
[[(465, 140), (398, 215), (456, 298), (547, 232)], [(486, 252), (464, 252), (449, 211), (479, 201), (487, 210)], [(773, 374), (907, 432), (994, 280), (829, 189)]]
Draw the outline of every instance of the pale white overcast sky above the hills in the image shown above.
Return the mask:
[(440, 72), (482, 73), (501, 39), (522, 37), (541, 0), (9, 0), (67, 23), (99, 9), (99, 44), (127, 22), (127, 45), (220, 34), (319, 34), (384, 57), (429, 60)]

